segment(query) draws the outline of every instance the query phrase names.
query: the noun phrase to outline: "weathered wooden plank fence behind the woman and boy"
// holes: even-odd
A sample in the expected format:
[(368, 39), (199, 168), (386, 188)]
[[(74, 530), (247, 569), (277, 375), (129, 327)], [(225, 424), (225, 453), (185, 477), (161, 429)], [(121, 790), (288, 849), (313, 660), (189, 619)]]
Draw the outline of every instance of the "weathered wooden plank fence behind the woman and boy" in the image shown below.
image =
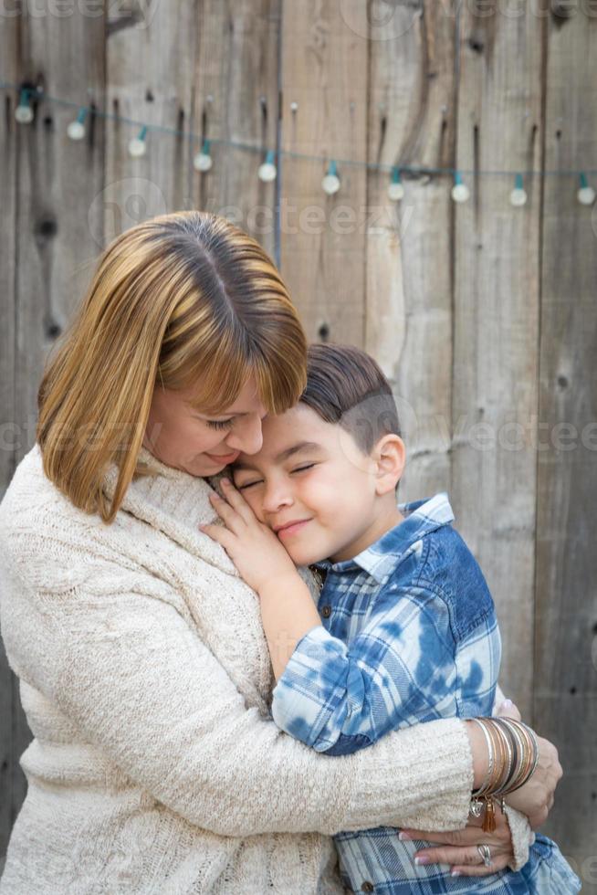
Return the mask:
[[(0, 94), (0, 485), (35, 440), (44, 358), (101, 247), (168, 210), (232, 217), (277, 258), (309, 336), (365, 346), (392, 377), (404, 499), (449, 492), (498, 605), (503, 686), (560, 748), (547, 830), (597, 891), (597, 211), (556, 174), (597, 167), (597, 5), (99, 7), (0, 12), (0, 79), (42, 90), (28, 125), (17, 91)], [(95, 109), (83, 142), (50, 97)], [(150, 128), (133, 159), (139, 125), (122, 119), (179, 133)], [(203, 138), (209, 174), (193, 167)], [(282, 153), (269, 184), (267, 149)], [(323, 159), (344, 161), (337, 195)], [(393, 204), (374, 164), (427, 170)], [(463, 205), (437, 171), (455, 168)], [(522, 208), (498, 173), (516, 171), (536, 173)], [(30, 734), (0, 674), (1, 855)]]

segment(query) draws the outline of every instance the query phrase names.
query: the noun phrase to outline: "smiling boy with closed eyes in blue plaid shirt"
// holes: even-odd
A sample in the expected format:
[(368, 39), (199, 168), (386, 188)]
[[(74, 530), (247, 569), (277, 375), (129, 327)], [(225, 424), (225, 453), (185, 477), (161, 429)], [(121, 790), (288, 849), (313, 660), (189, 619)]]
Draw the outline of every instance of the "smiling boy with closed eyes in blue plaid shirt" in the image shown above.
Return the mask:
[[(488, 716), (494, 703), (500, 639), (491, 595), (451, 527), (445, 494), (396, 506), (399, 432), (392, 390), (372, 358), (313, 345), (299, 405), (264, 421), (262, 449), (233, 467), (237, 491), (223, 481), (226, 500), (214, 500), (227, 530), (203, 528), (260, 596), (278, 681), (274, 721), (319, 752), (351, 753), (440, 717)], [(314, 566), (323, 581), (319, 612), (295, 563)], [(353, 891), (580, 888), (545, 837), (523, 869), (482, 879), (415, 865), (393, 828), (334, 838)]]

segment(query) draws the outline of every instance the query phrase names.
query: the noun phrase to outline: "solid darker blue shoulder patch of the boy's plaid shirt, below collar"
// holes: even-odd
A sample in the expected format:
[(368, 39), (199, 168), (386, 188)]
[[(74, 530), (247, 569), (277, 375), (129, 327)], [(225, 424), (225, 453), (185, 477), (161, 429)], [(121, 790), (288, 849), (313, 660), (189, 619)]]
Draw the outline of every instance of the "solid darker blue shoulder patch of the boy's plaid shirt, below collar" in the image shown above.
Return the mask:
[(401, 589), (410, 585), (422, 595), (432, 592), (440, 597), (457, 639), (463, 639), (487, 616), (495, 614), (485, 575), (451, 521), (422, 532), (416, 547), (414, 562), (407, 563), (407, 568), (398, 563), (388, 584), (398, 584)]

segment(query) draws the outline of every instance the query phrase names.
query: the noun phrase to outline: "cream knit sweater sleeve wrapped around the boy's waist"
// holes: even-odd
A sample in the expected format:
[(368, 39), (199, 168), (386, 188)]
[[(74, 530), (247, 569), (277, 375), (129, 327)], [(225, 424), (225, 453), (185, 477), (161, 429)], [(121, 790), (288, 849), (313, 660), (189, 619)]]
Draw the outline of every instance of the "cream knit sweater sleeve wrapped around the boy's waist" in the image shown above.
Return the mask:
[(234, 837), (466, 824), (473, 772), (460, 721), (392, 733), (350, 756), (319, 755), (246, 707), (176, 595), (165, 598), (169, 585), (160, 581), (160, 590), (140, 567), (91, 554), (84, 580), (72, 584), (42, 589), (20, 563), (11, 569), (9, 660), (18, 657), (17, 673), (86, 742), (190, 823)]

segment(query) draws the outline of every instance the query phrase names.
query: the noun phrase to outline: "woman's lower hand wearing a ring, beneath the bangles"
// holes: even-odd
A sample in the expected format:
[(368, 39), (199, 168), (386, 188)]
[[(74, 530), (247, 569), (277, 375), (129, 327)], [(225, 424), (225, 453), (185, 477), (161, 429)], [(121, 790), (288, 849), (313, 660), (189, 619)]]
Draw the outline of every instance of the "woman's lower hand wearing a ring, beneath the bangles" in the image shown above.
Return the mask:
[[(507, 867), (514, 860), (514, 849), (508, 819), (499, 806), (496, 806), (496, 829), (493, 833), (484, 833), (482, 822), (481, 817), (470, 816), (462, 830), (429, 833), (426, 830), (404, 829), (400, 838), (437, 843), (415, 852), (414, 857), (418, 858), (419, 864), (449, 864), (454, 876), (486, 877)], [(486, 866), (477, 846), (489, 848), (491, 866)]]

